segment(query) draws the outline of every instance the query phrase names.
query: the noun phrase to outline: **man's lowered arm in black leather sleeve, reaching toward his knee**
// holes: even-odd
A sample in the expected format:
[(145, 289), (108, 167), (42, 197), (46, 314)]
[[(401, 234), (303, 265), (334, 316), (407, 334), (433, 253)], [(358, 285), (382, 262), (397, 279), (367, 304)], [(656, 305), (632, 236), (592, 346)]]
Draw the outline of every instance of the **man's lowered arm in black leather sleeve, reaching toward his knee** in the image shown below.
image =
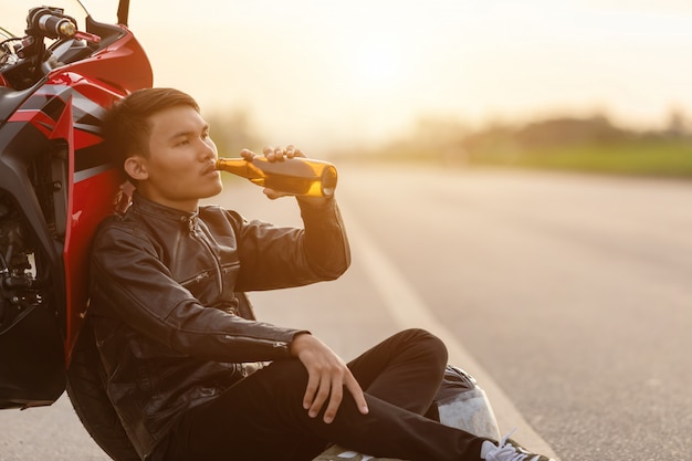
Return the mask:
[(186, 355), (231, 363), (289, 358), (293, 337), (304, 333), (201, 305), (147, 240), (118, 228), (95, 239), (91, 270), (97, 312)]

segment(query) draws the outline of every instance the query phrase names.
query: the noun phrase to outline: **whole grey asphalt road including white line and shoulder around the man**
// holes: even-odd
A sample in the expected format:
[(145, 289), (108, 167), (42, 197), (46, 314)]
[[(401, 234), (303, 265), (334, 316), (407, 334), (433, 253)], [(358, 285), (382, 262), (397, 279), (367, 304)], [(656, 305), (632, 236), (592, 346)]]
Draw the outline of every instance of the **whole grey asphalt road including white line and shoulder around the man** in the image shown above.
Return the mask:
[[(692, 184), (339, 172), (350, 270), (253, 294), (260, 317), (308, 327), (345, 358), (422, 324), (482, 377), (502, 429), (518, 426), (517, 439), (564, 461), (690, 459)], [(251, 218), (296, 222), (293, 203), (263, 200), (252, 185), (228, 187), (222, 199)], [(107, 457), (64, 398), (0, 411), (0, 460), (39, 459)]]

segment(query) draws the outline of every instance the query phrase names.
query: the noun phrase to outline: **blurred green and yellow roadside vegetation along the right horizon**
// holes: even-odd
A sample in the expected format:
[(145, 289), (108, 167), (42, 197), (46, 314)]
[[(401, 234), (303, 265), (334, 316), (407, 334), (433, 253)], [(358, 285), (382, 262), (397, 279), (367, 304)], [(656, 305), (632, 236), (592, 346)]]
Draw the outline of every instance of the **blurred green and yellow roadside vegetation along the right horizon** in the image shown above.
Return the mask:
[(679, 113), (659, 130), (621, 128), (605, 116), (495, 124), (478, 130), (427, 119), (406, 137), (371, 149), (367, 158), (692, 178), (692, 133)]

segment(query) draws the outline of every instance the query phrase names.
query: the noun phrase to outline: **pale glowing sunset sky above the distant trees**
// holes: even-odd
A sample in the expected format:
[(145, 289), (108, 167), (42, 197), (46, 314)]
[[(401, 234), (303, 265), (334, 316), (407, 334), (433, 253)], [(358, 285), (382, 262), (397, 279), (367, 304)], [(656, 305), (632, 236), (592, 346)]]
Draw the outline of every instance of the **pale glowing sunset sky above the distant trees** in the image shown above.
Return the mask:
[(378, 140), (421, 116), (692, 118), (690, 0), (133, 0), (129, 25), (157, 86), (248, 111), (268, 144)]

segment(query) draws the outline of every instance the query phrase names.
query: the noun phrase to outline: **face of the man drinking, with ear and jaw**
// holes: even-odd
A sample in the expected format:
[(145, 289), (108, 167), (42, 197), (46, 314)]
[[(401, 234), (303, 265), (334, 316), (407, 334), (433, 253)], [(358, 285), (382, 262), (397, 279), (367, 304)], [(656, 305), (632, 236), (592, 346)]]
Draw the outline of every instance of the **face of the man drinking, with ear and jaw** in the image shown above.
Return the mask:
[(219, 193), (223, 186), (214, 169), (217, 146), (209, 126), (189, 106), (176, 106), (149, 117), (149, 155), (141, 163), (138, 190), (158, 203), (195, 211), (198, 200)]

